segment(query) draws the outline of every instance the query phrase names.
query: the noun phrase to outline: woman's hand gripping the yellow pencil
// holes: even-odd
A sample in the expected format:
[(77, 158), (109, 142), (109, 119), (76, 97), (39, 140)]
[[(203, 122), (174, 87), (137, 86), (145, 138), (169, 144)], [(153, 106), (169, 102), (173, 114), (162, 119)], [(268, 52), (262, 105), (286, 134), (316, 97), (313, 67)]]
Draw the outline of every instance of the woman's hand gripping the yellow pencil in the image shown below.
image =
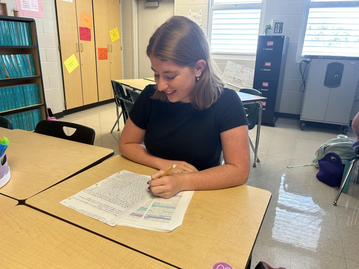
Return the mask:
[(169, 173), (167, 176), (160, 178), (164, 172), (164, 170), (159, 170), (151, 175), (151, 180), (148, 181), (148, 184), (154, 195), (167, 199), (183, 190), (185, 175)]

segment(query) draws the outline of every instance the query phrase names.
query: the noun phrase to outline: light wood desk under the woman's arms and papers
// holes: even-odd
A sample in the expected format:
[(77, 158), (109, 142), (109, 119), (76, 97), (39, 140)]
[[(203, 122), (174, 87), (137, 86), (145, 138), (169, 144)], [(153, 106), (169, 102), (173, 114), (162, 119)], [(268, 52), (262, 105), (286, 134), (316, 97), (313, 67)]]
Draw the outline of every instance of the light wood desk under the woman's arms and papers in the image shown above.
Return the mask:
[(247, 185), (196, 191), (182, 225), (172, 232), (111, 227), (59, 203), (122, 169), (146, 175), (157, 171), (116, 155), (25, 203), (180, 268), (213, 268), (221, 261), (246, 268), (270, 192)]

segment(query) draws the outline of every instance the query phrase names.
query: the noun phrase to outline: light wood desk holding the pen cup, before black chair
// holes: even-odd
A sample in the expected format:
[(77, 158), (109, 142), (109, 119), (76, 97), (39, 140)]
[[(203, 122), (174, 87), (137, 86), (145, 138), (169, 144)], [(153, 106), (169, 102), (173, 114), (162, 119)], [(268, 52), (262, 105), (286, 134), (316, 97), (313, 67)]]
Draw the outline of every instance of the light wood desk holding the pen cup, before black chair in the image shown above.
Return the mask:
[(20, 129), (0, 128), (0, 136), (10, 141), (6, 157), (11, 173), (0, 193), (20, 203), (113, 155), (112, 149)]

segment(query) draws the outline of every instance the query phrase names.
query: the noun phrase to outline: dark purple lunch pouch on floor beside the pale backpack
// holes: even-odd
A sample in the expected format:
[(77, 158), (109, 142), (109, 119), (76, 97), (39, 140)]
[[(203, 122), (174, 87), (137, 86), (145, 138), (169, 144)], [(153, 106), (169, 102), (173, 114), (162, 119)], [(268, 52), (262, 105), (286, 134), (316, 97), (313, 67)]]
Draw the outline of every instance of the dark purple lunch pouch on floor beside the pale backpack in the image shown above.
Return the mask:
[(319, 172), (317, 179), (330, 187), (335, 187), (341, 183), (344, 168), (340, 157), (334, 152), (329, 152), (322, 159), (318, 160)]

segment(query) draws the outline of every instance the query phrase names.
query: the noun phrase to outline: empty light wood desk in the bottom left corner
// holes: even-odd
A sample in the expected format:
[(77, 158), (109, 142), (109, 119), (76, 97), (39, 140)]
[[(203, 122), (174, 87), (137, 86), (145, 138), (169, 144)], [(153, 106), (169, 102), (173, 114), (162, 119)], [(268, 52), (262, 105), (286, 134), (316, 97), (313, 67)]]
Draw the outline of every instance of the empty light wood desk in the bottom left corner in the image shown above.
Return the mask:
[(0, 216), (1, 268), (172, 268), (24, 205)]

